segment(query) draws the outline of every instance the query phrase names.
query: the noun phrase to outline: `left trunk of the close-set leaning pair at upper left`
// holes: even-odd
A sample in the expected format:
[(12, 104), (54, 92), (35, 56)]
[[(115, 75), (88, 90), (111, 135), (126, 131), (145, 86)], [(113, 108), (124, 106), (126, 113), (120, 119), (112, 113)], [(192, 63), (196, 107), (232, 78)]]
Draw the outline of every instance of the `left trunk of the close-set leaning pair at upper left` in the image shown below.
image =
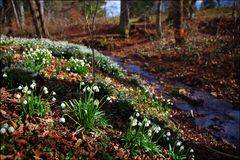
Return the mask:
[(48, 37), (48, 32), (45, 27), (44, 19), (40, 11), (39, 3), (37, 2), (37, 0), (29, 0), (29, 2), (37, 35), (40, 38)]

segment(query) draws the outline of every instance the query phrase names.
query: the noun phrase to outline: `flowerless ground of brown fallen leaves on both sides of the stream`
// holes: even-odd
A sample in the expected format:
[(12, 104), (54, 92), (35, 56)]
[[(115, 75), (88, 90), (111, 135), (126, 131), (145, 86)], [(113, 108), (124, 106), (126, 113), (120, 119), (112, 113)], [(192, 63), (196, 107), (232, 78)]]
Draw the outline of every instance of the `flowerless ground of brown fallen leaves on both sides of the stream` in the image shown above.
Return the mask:
[[(235, 104), (239, 109), (239, 48), (231, 45), (232, 35), (226, 34), (231, 30), (231, 20), (198, 19), (188, 23), (191, 30), (186, 33), (186, 44), (183, 46), (174, 45), (173, 30), (167, 24), (163, 24), (161, 40), (155, 38), (154, 25), (142, 24), (133, 24), (127, 39), (114, 33), (115, 25), (97, 26), (93, 39), (98, 44), (96, 48), (105, 55), (126, 64), (137, 64), (163, 83), (165, 80), (173, 80), (199, 88)], [(70, 27), (65, 31), (65, 39), (88, 45), (92, 37), (81, 30), (80, 25)], [(57, 36), (55, 38), (58, 39)], [(162, 89), (171, 92), (173, 88)], [(197, 150), (199, 159), (232, 159), (234, 157), (228, 157), (224, 153), (236, 155), (236, 150), (226, 141), (213, 137), (210, 131), (196, 126), (194, 118), (188, 113), (179, 110), (173, 116), (174, 119), (184, 130), (186, 138), (194, 142), (192, 145)]]

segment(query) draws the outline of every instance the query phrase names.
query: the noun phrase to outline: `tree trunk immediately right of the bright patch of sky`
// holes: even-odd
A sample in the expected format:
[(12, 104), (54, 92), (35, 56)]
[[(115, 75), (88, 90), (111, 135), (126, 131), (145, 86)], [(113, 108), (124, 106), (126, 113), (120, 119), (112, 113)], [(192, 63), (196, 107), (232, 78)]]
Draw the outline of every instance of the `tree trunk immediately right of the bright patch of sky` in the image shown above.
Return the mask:
[(121, 0), (121, 14), (119, 22), (120, 33), (129, 36), (129, 5), (127, 0)]

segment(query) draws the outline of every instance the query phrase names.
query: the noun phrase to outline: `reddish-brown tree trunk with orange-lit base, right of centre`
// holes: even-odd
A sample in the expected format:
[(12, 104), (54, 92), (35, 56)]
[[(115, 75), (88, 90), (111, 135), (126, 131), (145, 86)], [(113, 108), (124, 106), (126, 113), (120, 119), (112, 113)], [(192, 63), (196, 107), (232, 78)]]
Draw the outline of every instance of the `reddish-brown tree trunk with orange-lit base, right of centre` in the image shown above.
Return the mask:
[(175, 29), (174, 36), (176, 44), (183, 44), (185, 42), (182, 28), (182, 0), (172, 1), (173, 6), (173, 27)]

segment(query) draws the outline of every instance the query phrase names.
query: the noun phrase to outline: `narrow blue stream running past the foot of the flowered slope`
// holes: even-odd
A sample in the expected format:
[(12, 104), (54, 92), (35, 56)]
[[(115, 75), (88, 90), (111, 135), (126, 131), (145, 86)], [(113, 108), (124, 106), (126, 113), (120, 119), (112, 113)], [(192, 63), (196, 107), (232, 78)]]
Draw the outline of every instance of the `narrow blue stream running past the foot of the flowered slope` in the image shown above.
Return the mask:
[[(160, 81), (153, 74), (144, 71), (139, 65), (125, 64), (118, 58), (112, 58), (112, 60), (122, 66), (128, 73), (140, 75), (148, 85), (155, 85), (158, 92), (163, 90), (161, 89), (163, 83), (174, 86), (174, 88), (181, 87), (191, 90), (191, 96), (202, 100), (203, 103), (196, 105), (180, 97), (175, 97), (174, 107), (188, 113), (200, 113), (201, 116), (194, 117), (196, 125), (211, 129), (213, 135), (222, 139), (225, 143), (230, 143), (235, 147), (240, 146), (240, 110), (236, 109), (240, 107), (236, 107), (223, 99), (216, 98), (205, 91), (182, 83), (169, 80)], [(163, 94), (163, 96), (166, 98), (171, 97), (169, 94)]]

